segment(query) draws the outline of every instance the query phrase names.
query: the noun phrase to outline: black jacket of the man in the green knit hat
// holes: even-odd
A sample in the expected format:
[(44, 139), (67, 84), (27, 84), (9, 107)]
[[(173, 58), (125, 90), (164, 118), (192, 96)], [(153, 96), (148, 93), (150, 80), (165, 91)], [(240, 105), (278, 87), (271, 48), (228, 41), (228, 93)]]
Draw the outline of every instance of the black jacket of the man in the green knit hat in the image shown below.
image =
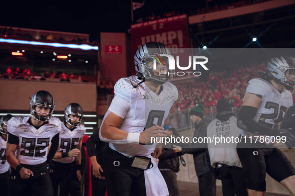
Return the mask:
[[(195, 124), (194, 137), (207, 137), (207, 126), (212, 120), (207, 117), (203, 117), (202, 120)], [(208, 162), (207, 143), (192, 143), (192, 148), (183, 148), (182, 154), (189, 153), (194, 156), (195, 170), (197, 176), (210, 172)]]

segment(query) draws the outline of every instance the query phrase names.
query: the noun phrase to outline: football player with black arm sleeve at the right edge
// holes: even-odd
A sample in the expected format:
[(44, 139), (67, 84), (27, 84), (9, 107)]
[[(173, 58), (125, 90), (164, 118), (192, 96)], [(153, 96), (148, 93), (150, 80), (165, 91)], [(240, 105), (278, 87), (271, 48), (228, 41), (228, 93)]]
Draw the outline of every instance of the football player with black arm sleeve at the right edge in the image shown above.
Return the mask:
[(266, 173), (284, 185), (290, 195), (295, 195), (294, 167), (285, 154), (267, 140), (270, 136), (286, 137), (289, 148), (295, 145), (291, 129), (279, 129), (287, 109), (293, 104), (290, 90), (295, 84), (294, 66), (295, 59), (291, 56), (275, 57), (268, 61), (262, 78), (250, 80), (246, 89), (237, 125), (247, 139), (238, 143), (237, 152), (250, 196), (264, 195)]

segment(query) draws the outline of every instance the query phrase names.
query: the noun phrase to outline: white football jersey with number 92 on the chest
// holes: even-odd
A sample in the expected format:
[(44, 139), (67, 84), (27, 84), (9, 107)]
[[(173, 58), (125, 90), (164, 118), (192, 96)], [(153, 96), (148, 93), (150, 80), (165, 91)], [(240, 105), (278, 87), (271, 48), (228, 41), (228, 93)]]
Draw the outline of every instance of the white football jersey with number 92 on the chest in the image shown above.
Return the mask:
[[(51, 117), (47, 124), (36, 129), (27, 121), (30, 116), (13, 116), (7, 122), (7, 131), (19, 138), (16, 158), (20, 164), (37, 165), (47, 159), (47, 150), (54, 135), (60, 131), (60, 120)], [(9, 136), (9, 135), (8, 135)]]

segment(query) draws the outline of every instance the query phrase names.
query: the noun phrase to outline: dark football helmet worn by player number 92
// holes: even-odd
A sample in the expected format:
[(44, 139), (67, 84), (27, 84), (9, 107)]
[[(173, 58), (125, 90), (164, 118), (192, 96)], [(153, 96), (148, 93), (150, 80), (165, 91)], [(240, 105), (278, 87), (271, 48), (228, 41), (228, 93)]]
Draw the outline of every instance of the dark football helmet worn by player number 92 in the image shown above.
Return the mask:
[[(40, 112), (40, 110), (48, 110), (48, 113)], [(53, 97), (47, 91), (38, 91), (30, 100), (30, 115), (34, 119), (42, 122), (46, 122), (50, 119), (55, 108), (55, 101)], [(39, 111), (37, 111), (39, 110)], [(45, 115), (41, 115), (45, 114)]]

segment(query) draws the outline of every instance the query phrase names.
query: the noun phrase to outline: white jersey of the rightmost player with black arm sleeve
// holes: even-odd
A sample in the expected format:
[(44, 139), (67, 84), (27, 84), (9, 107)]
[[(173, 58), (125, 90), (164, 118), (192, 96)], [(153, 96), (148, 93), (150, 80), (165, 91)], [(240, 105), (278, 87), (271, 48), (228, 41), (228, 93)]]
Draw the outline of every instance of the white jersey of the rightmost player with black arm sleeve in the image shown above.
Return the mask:
[[(286, 115), (287, 109), (293, 105), (290, 91), (284, 90), (280, 93), (271, 83), (260, 78), (249, 81), (246, 89), (247, 93), (262, 96), (262, 103), (257, 110), (254, 120), (268, 127), (278, 128)], [(257, 135), (244, 130), (241, 131), (241, 134), (247, 136)]]

